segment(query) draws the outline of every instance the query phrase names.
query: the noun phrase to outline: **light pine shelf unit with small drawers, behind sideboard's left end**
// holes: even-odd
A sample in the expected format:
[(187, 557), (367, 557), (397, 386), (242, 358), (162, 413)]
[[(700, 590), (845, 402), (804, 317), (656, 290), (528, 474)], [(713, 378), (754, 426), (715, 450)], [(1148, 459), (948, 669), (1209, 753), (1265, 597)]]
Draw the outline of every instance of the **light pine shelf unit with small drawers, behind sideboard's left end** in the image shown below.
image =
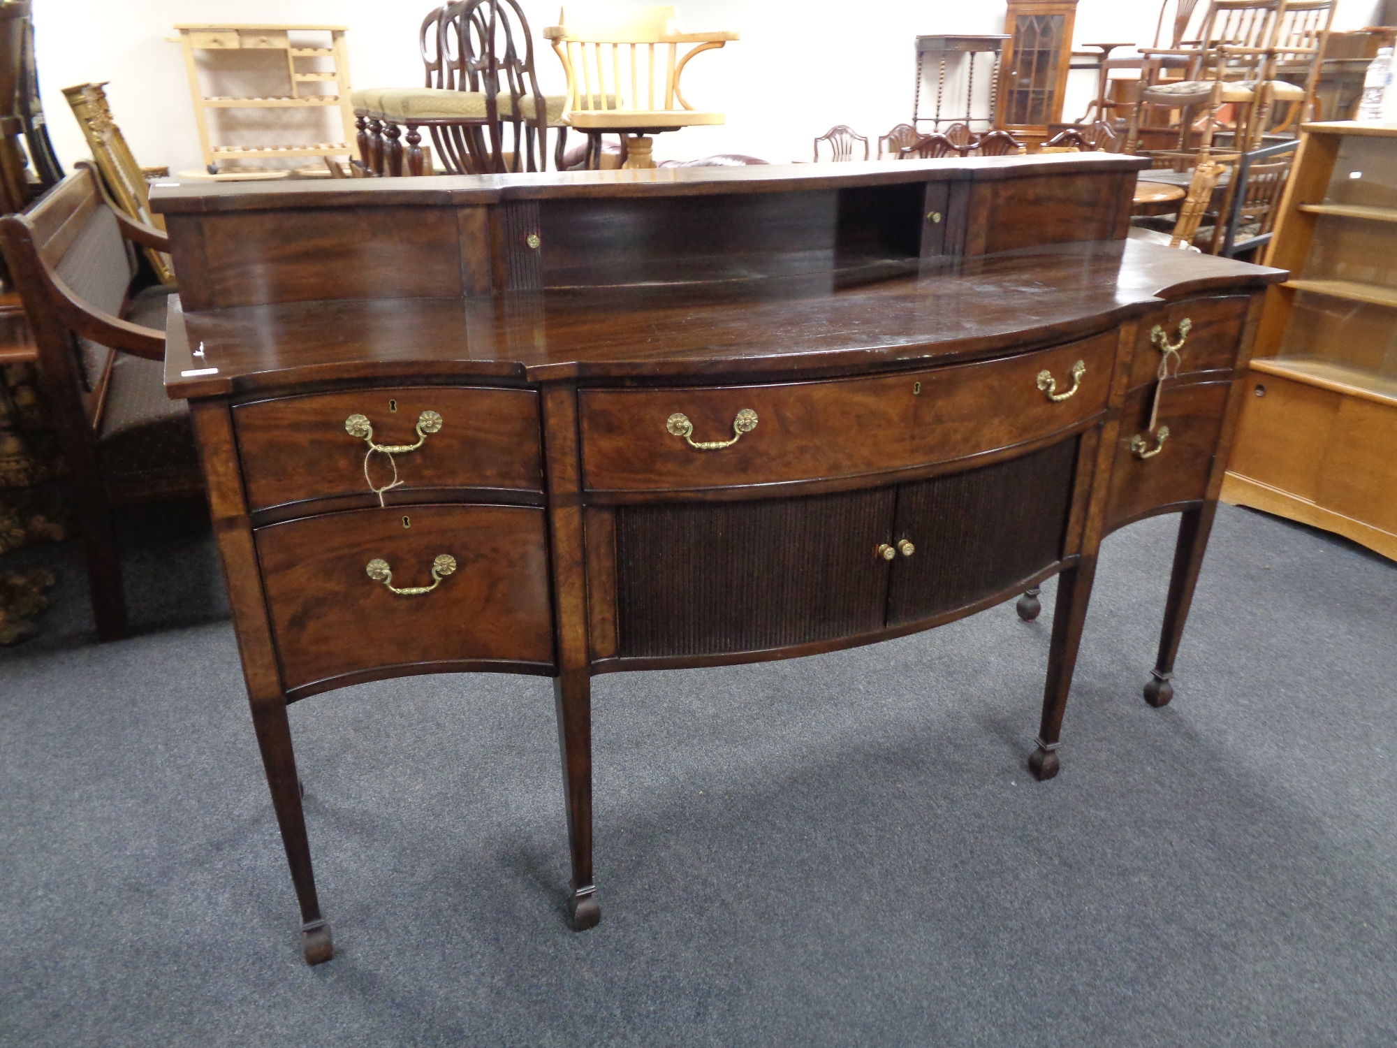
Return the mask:
[[(211, 173), (229, 161), (341, 157), (352, 152), (355, 130), (346, 27), (180, 24), (175, 28), (179, 29), (194, 99), (198, 143)], [(279, 54), (272, 57), (274, 52)], [(253, 61), (231, 61), (231, 53)], [(214, 54), (222, 56), (224, 61)], [(258, 84), (267, 89), (258, 89)], [(217, 85), (214, 92), (207, 91), (210, 85)], [(233, 85), (233, 94), (222, 94), (228, 85)], [(249, 85), (253, 87), (237, 89)], [(293, 122), (286, 113), (257, 122), (239, 112), (268, 109), (332, 110), (332, 119)], [(251, 134), (254, 140), (225, 141), (210, 119), (211, 112), (229, 115), (240, 137)], [(316, 127), (327, 130), (317, 136)], [(314, 137), (331, 141), (307, 141)]]

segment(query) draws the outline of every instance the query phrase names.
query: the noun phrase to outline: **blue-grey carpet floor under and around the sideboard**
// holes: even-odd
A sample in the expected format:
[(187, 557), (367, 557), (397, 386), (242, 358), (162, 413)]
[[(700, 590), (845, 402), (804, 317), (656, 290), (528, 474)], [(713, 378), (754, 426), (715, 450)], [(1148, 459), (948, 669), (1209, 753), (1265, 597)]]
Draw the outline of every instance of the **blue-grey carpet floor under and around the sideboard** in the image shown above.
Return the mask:
[(1175, 521), (1106, 541), (1051, 783), (1051, 587), (1034, 625), (598, 678), (585, 933), (548, 681), (298, 703), (317, 968), (207, 531), (133, 525), (106, 646), (75, 551), (25, 551), (63, 583), (0, 654), (0, 1042), (1397, 1044), (1397, 566), (1224, 507), (1157, 711)]

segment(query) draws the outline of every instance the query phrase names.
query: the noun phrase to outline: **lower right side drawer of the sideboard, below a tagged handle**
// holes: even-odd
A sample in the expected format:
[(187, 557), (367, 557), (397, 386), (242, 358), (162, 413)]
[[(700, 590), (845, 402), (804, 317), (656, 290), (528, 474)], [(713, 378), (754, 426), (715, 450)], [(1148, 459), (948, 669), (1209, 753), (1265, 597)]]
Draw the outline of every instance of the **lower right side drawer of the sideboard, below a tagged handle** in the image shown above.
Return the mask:
[[(1147, 429), (1154, 387), (1130, 394), (1111, 470), (1108, 531), (1207, 495), (1231, 388), (1229, 379), (1166, 387), (1154, 433)], [(1169, 435), (1161, 443), (1164, 429)]]

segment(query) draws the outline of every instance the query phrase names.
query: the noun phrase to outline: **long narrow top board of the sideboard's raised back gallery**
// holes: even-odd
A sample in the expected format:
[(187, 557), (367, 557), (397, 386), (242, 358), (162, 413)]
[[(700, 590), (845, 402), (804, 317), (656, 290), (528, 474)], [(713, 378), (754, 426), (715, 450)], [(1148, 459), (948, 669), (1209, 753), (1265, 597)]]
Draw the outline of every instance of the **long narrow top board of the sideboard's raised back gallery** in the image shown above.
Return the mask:
[[(965, 157), (932, 161), (761, 163), (739, 168), (564, 170), (528, 175), (453, 175), (432, 179), (328, 182), (166, 183), (151, 190), (161, 214), (260, 211), (289, 207), (462, 207), (509, 200), (717, 196), (893, 186), (905, 182), (993, 182), (1037, 175), (1143, 170), (1139, 157), (1106, 152)], [(429, 184), (423, 186), (426, 182)]]

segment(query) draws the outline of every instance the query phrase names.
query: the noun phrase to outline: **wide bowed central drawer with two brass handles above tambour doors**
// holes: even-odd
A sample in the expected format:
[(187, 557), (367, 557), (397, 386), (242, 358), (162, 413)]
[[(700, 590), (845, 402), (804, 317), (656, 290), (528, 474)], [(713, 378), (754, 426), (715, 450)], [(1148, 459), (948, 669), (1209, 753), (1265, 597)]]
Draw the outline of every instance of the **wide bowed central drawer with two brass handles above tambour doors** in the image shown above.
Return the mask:
[(578, 394), (592, 492), (701, 490), (911, 470), (1081, 426), (1116, 334), (875, 379)]

